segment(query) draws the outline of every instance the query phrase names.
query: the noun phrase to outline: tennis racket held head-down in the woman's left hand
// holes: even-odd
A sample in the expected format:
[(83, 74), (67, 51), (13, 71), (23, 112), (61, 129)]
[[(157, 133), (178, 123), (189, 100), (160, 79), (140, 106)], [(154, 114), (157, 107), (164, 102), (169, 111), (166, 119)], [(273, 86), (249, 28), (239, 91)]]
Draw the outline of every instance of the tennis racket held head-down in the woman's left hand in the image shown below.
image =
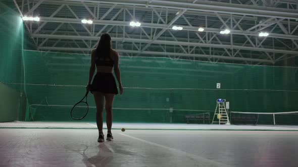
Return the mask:
[[(89, 106), (87, 103), (87, 95), (89, 91), (86, 92), (85, 96), (83, 97), (82, 100), (80, 100), (77, 104), (75, 104), (70, 112), (70, 116), (74, 120), (81, 120), (86, 117)], [(85, 100), (85, 101), (84, 101)]]

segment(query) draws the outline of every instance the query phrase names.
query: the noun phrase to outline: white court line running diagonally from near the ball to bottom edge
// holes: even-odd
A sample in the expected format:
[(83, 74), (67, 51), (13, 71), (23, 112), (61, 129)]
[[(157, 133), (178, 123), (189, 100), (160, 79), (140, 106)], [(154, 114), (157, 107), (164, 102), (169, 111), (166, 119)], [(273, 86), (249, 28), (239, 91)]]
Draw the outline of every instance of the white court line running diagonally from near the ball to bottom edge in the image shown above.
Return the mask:
[(209, 164), (209, 165), (212, 165), (212, 166), (220, 166), (220, 167), (229, 166), (227, 164), (220, 163), (220, 162), (217, 162), (217, 161), (214, 161), (214, 160), (210, 160), (210, 159), (204, 158), (202, 156), (197, 156), (197, 155), (194, 155), (192, 153), (187, 153), (187, 152), (175, 149), (175, 148), (171, 148), (171, 147), (168, 147), (168, 146), (165, 146), (165, 145), (161, 145), (161, 144), (157, 144), (157, 143), (154, 143), (154, 142), (151, 142), (151, 141), (143, 140), (143, 139), (140, 139), (140, 138), (137, 138), (137, 137), (133, 137), (133, 136), (124, 134), (124, 133), (119, 133), (119, 134), (123, 135), (123, 136), (126, 136), (126, 137), (129, 137), (129, 138), (132, 138), (132, 139), (135, 139), (135, 140), (142, 141), (142, 142), (147, 143), (147, 144), (151, 144), (151, 145), (154, 145), (154, 146), (157, 146), (157, 147), (168, 149), (168, 150), (173, 151), (173, 152), (177, 152), (180, 155), (185, 154), (185, 155), (187, 155), (187, 156), (189, 156), (193, 159), (196, 159), (197, 161), (203, 162), (204, 164), (202, 164), (202, 166), (206, 166), (206, 163)]

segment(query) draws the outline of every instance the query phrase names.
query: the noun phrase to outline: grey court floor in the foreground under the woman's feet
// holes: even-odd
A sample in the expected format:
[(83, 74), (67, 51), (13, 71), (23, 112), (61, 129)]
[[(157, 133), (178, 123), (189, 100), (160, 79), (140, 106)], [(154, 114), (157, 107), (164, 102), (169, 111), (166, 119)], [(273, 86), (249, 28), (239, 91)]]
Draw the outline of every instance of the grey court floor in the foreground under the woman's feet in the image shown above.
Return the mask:
[[(298, 131), (0, 129), (0, 166), (297, 166)], [(106, 129), (104, 131), (106, 135)]]

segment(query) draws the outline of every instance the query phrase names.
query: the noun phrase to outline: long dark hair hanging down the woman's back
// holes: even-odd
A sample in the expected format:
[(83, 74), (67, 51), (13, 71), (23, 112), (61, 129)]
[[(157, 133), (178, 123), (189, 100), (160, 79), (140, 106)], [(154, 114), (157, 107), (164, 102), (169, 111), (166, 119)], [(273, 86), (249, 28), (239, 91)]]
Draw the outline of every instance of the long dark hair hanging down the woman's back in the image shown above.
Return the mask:
[(111, 36), (108, 33), (104, 33), (101, 35), (101, 39), (98, 41), (95, 54), (98, 57), (107, 57), (110, 58), (110, 51), (111, 51)]

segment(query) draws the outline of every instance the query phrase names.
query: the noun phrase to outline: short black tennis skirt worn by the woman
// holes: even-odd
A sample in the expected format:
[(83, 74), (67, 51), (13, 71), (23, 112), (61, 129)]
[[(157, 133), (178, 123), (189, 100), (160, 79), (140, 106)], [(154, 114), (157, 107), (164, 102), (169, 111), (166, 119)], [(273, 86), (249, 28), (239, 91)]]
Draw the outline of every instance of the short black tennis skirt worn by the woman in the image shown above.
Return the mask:
[(101, 92), (104, 94), (118, 94), (115, 78), (112, 73), (97, 72), (91, 85), (92, 92)]

